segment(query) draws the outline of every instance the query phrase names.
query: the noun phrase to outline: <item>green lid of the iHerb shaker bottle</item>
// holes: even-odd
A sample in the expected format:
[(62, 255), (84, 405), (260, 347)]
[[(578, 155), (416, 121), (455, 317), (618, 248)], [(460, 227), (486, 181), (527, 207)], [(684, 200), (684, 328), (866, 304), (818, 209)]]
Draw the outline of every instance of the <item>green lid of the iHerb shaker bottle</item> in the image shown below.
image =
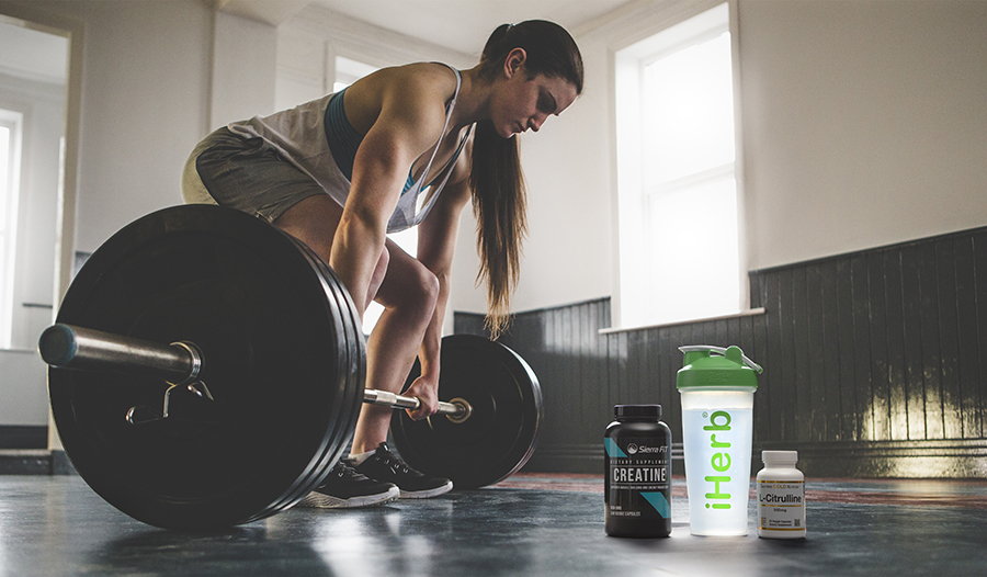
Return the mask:
[[(730, 386), (758, 388), (762, 369), (744, 355), (739, 347), (696, 344), (679, 347), (685, 353), (684, 366), (676, 376), (678, 388), (700, 386)], [(717, 354), (713, 354), (717, 353)]]

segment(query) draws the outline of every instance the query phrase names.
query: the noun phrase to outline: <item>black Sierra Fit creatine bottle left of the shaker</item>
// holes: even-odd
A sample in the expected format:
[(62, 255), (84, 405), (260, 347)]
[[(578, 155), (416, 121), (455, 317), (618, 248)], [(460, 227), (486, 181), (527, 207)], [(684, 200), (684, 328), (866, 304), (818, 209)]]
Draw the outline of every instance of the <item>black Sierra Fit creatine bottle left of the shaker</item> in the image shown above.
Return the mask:
[(661, 405), (616, 405), (603, 439), (605, 527), (613, 536), (671, 533), (671, 430)]

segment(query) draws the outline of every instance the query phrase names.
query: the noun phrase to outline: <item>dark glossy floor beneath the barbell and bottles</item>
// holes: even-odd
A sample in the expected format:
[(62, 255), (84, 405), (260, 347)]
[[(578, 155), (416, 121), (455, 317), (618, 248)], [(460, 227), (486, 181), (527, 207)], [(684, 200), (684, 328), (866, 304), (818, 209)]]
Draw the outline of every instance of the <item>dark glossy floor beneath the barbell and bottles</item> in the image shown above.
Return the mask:
[(64, 575), (987, 575), (987, 482), (809, 482), (808, 539), (603, 532), (602, 479), (519, 475), (374, 509), (293, 509), (228, 531), (158, 530), (77, 476), (0, 476), (0, 577)]

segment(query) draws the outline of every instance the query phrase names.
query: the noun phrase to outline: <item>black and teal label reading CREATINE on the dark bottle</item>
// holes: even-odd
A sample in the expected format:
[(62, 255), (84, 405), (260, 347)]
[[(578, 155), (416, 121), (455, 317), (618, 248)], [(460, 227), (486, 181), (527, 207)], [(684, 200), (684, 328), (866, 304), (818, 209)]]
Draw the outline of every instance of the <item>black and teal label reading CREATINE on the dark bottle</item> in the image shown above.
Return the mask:
[(636, 519), (671, 517), (668, 446), (654, 438), (605, 439), (606, 514)]

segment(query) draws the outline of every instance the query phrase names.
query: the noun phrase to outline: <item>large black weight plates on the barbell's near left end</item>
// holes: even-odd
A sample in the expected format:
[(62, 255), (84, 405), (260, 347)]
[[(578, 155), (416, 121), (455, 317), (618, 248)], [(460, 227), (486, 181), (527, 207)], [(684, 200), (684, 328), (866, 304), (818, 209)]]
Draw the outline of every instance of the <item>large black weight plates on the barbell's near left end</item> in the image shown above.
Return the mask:
[(171, 529), (249, 522), (314, 488), (344, 450), (362, 386), (322, 271), (249, 215), (190, 205), (107, 240), (72, 282), (59, 323), (203, 351), (216, 398), (105, 372), (49, 371), (55, 422), (82, 478), (122, 511)]

